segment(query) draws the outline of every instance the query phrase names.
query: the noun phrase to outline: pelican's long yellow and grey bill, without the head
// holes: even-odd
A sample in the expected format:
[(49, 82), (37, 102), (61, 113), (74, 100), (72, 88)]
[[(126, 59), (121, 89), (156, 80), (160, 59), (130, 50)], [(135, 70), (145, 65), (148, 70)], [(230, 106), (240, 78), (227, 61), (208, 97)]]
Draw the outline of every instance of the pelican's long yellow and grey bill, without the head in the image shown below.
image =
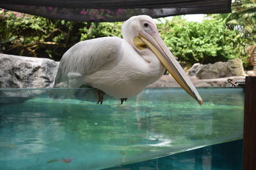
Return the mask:
[(134, 38), (134, 45), (136, 45), (140, 50), (145, 48), (145, 45), (155, 53), (158, 59), (161, 61), (164, 67), (172, 74), (173, 78), (179, 83), (179, 85), (188, 92), (200, 105), (203, 104), (202, 98), (198, 94), (192, 81), (189, 79), (188, 75), (185, 73), (184, 69), (180, 66), (179, 62), (175, 59), (172, 52), (164, 44), (163, 39), (158, 34), (157, 30), (150, 32), (148, 34), (145, 31), (140, 31), (140, 34)]

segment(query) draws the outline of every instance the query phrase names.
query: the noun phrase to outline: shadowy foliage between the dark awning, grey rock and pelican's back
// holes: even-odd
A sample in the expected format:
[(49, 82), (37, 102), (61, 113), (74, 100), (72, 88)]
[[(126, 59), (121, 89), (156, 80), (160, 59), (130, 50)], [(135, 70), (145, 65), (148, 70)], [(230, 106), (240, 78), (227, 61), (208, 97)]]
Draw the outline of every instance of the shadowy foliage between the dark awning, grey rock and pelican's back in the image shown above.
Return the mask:
[(79, 41), (120, 36), (120, 25), (51, 20), (0, 9), (0, 52), (60, 60)]

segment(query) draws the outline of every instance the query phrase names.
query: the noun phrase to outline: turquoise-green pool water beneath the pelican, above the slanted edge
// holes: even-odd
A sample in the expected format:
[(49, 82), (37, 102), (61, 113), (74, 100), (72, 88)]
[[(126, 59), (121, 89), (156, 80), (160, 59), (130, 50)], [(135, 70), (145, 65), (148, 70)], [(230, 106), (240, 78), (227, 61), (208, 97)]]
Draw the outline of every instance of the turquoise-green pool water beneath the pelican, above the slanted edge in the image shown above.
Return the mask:
[(179, 88), (123, 105), (78, 100), (95, 98), (81, 89), (0, 90), (0, 169), (104, 169), (242, 139), (243, 89), (198, 92), (203, 106)]

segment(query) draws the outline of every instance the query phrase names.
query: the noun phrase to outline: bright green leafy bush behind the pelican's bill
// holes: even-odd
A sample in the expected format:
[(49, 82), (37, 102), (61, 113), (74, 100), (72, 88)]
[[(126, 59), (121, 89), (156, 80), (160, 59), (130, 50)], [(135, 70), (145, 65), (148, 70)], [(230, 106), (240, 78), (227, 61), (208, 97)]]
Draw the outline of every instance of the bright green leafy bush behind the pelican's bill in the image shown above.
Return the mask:
[(164, 42), (175, 57), (189, 64), (225, 61), (239, 57), (234, 48), (237, 31), (227, 29), (223, 20), (211, 18), (188, 22), (182, 17), (173, 17), (159, 24)]

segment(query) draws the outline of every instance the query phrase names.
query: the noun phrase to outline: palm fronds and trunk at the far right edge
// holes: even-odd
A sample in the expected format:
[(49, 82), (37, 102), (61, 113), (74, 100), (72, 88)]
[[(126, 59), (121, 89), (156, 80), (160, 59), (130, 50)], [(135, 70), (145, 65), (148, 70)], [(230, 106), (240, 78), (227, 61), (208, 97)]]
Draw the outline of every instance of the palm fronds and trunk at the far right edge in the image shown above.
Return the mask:
[(228, 29), (239, 31), (236, 48), (241, 53), (244, 66), (250, 69), (256, 49), (256, 1), (235, 0), (232, 3), (232, 13), (212, 17), (225, 20)]

